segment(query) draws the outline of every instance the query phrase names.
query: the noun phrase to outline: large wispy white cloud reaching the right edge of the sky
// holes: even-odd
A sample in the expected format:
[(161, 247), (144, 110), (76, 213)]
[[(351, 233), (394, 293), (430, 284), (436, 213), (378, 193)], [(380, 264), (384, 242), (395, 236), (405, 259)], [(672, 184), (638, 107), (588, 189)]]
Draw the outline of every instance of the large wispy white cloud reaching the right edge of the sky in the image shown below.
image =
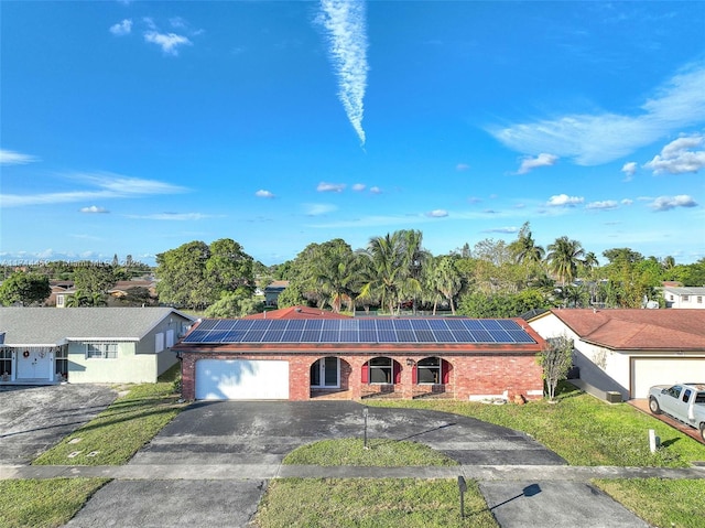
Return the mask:
[(519, 152), (553, 152), (579, 165), (597, 165), (705, 119), (705, 64), (673, 76), (637, 116), (600, 112), (567, 115), (488, 131)]

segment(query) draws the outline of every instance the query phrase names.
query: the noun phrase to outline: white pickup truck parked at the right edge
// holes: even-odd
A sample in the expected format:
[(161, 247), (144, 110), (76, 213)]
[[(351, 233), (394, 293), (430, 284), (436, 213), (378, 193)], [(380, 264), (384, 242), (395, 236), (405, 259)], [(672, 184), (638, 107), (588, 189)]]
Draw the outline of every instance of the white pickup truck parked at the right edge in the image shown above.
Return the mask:
[(649, 389), (649, 409), (665, 412), (699, 430), (705, 442), (705, 384), (657, 385)]

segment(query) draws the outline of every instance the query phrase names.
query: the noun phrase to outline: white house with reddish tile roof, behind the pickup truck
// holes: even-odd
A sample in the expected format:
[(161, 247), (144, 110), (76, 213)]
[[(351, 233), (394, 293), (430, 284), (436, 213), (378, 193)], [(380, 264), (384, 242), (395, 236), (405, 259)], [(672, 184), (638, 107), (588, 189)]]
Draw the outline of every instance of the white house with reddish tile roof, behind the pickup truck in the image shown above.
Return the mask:
[(649, 387), (705, 380), (703, 310), (549, 310), (529, 325), (544, 340), (574, 341), (579, 378), (622, 399), (646, 398)]

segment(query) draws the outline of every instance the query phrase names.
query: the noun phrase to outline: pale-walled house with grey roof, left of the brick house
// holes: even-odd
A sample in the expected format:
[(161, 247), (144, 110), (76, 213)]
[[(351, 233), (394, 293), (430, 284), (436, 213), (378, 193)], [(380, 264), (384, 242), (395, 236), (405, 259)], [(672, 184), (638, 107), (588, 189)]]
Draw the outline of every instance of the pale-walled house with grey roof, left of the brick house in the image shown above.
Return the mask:
[(0, 308), (0, 385), (153, 382), (193, 322), (171, 308)]

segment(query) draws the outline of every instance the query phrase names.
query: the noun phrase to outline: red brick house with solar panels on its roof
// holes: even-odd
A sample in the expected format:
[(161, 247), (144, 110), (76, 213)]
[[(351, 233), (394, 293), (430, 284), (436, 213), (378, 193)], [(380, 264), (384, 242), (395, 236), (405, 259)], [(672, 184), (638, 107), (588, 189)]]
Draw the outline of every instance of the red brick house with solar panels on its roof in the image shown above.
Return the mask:
[(544, 345), (523, 320), (268, 315), (203, 320), (174, 349), (187, 400), (480, 400), (541, 398)]

